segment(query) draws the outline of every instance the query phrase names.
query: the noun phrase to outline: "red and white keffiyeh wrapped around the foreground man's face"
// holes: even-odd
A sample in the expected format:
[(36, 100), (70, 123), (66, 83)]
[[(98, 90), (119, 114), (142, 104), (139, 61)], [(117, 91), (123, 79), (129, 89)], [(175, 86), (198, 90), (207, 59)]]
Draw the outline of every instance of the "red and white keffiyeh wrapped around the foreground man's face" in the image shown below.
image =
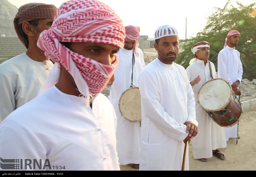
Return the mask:
[[(55, 63), (41, 92), (59, 80), (60, 66), (72, 75), (78, 91), (86, 97), (100, 93), (118, 66), (101, 63), (72, 52), (60, 42), (103, 43), (124, 47), (125, 31), (120, 17), (97, 0), (70, 0), (59, 7), (52, 28), (41, 33), (37, 45)], [(61, 65), (60, 65), (61, 64)]]

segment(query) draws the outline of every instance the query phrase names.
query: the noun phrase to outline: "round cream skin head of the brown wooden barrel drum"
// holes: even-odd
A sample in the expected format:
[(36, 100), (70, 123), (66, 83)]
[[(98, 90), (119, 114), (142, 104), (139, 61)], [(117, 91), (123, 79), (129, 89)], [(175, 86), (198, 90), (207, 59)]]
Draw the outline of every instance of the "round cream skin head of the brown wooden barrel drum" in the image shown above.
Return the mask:
[(198, 92), (198, 103), (207, 111), (225, 108), (232, 96), (232, 87), (221, 78), (206, 82)]

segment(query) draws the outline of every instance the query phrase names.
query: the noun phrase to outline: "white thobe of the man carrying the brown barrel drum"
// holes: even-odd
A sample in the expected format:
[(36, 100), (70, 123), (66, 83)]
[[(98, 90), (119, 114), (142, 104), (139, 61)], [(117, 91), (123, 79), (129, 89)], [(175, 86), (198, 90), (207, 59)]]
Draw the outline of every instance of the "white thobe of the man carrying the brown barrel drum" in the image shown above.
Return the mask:
[(207, 112), (203, 110), (200, 104), (197, 103), (200, 88), (205, 82), (212, 79), (210, 76), (209, 63), (211, 65), (213, 78), (217, 78), (215, 66), (209, 60), (207, 60), (206, 65), (204, 65), (204, 61), (197, 59), (195, 63), (186, 69), (190, 81), (195, 79), (198, 75), (201, 78), (200, 82), (193, 86), (196, 120), (198, 121), (197, 136), (191, 140), (194, 159), (211, 158), (213, 156), (212, 150), (227, 146), (224, 128), (217, 125)]

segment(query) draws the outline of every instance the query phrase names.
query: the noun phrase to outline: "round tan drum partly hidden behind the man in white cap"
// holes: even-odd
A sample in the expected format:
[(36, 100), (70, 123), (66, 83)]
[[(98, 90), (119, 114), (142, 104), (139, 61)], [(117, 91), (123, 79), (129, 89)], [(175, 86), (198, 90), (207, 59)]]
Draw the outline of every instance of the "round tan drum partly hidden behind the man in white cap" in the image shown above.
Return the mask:
[(119, 98), (119, 111), (129, 122), (141, 121), (141, 94), (139, 87), (132, 86), (122, 93)]

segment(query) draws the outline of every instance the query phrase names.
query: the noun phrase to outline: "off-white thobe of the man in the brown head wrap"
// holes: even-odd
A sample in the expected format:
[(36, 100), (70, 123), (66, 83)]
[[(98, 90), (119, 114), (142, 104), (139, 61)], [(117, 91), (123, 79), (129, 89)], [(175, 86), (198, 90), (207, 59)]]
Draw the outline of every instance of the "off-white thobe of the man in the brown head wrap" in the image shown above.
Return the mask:
[(37, 97), (53, 63), (38, 62), (26, 53), (15, 56), (0, 65), (0, 122), (13, 110)]

